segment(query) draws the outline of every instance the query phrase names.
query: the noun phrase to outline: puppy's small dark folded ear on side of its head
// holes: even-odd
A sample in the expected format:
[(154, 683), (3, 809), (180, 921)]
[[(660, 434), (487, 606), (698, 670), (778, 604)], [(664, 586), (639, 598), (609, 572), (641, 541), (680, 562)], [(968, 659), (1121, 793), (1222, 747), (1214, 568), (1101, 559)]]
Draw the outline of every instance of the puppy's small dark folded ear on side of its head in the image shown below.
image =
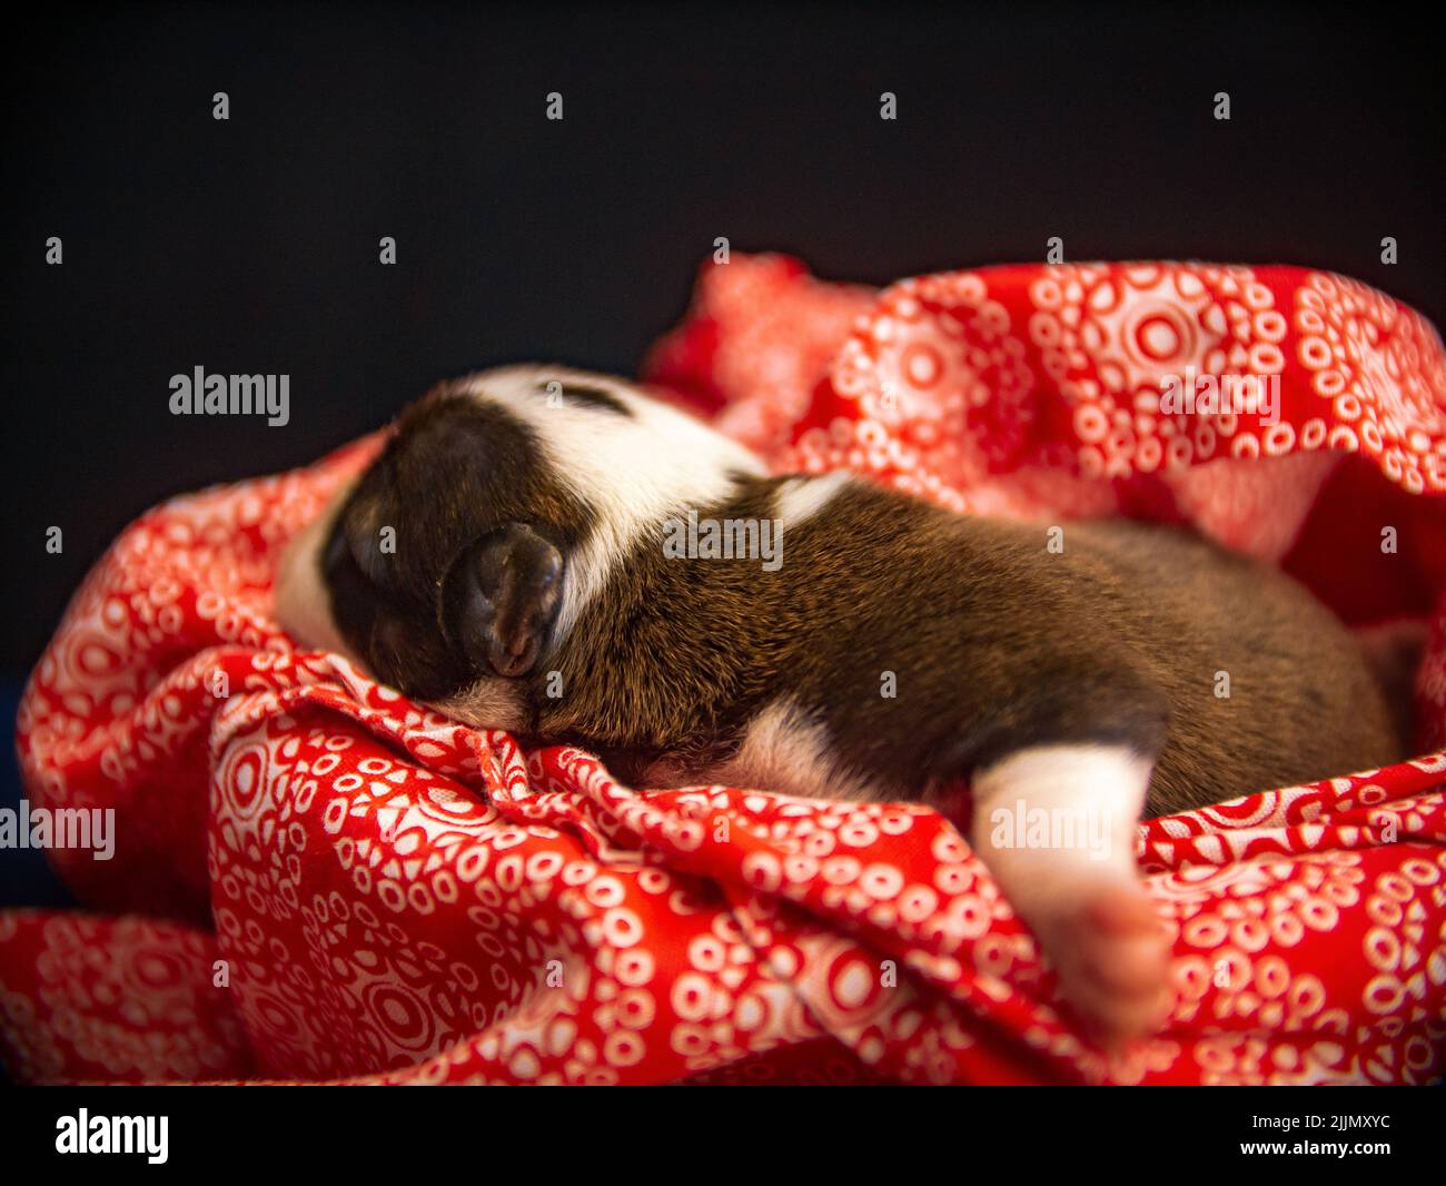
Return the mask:
[(562, 553), (526, 524), (505, 524), (457, 555), (442, 577), (440, 622), (476, 671), (526, 675), (562, 594)]

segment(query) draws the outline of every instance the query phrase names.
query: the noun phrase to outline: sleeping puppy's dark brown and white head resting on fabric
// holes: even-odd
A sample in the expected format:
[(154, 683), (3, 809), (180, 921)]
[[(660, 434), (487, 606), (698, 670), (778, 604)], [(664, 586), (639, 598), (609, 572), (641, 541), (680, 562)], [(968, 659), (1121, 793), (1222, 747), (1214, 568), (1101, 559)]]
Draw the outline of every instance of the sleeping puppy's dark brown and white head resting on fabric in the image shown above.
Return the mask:
[(442, 383), (288, 551), (278, 616), (412, 699), (496, 703), (629, 547), (739, 473), (762, 466), (617, 379), (519, 366)]

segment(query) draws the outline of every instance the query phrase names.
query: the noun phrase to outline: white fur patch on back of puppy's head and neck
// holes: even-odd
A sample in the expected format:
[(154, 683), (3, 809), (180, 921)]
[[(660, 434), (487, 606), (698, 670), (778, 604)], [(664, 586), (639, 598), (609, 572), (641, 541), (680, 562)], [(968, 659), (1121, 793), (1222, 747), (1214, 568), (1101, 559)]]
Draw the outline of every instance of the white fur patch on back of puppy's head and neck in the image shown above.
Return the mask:
[[(555, 405), (547, 395), (552, 379), (600, 388), (626, 405), (632, 417), (565, 401)], [(474, 375), (466, 386), (528, 424), (558, 477), (597, 515), (591, 535), (570, 558), (562, 579), (554, 647), (607, 583), (619, 557), (642, 541), (656, 541), (661, 548), (667, 519), (726, 498), (735, 485), (733, 473), (766, 473), (763, 463), (737, 441), (604, 376), (513, 366)]]

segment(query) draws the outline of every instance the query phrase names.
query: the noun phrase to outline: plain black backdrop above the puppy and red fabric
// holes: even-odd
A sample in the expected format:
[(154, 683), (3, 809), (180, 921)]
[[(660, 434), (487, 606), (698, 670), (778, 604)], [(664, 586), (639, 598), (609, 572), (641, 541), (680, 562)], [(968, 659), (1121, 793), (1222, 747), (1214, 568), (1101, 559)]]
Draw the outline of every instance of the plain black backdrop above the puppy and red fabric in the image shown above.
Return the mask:
[[(1440, 48), (1407, 12), (46, 9), (3, 51), (0, 668), (168, 495), (470, 367), (635, 370), (720, 234), (876, 283), (1054, 234), (1309, 263), (1440, 323)], [(172, 417), (197, 364), (291, 375), (291, 424)]]

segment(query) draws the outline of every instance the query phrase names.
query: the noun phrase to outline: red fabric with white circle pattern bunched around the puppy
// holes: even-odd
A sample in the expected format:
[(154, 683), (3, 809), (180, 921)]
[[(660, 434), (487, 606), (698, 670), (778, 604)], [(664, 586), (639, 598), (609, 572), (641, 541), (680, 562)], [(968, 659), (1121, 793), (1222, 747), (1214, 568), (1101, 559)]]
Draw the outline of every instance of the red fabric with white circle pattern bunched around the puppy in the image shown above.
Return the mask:
[[(1163, 415), (1186, 366), (1278, 376), (1278, 422)], [(1193, 522), (1352, 620), (1432, 612), (1426, 756), (1144, 826), (1178, 1004), (1106, 1057), (931, 810), (639, 793), (295, 651), (275, 563), (369, 440), (149, 512), (65, 615), (22, 706), (23, 772), (38, 806), (113, 807), (117, 842), (108, 862), (52, 852), (95, 914), (0, 916), (20, 1079), (1446, 1070), (1446, 359), (1417, 314), (1297, 268), (1012, 266), (875, 294), (735, 257), (648, 377), (779, 469)]]

